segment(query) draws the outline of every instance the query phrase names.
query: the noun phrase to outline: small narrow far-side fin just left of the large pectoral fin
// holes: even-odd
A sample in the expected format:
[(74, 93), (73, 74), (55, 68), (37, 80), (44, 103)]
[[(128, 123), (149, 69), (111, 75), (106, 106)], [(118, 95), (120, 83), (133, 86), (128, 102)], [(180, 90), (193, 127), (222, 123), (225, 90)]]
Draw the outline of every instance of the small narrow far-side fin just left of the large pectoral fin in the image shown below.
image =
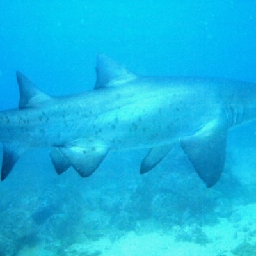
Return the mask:
[(143, 159), (140, 166), (140, 173), (146, 173), (154, 168), (172, 149), (173, 144), (150, 148), (147, 156)]

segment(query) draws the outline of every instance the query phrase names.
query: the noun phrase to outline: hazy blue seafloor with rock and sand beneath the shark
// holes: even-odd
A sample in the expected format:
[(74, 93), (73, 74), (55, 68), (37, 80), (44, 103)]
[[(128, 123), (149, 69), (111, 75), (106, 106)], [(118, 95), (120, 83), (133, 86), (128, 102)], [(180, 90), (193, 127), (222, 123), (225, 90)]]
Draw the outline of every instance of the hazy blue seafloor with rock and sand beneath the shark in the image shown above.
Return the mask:
[(0, 255), (255, 256), (255, 150), (229, 148), (210, 189), (179, 147), (146, 175), (144, 152), (113, 153), (86, 180), (29, 154), (1, 183)]

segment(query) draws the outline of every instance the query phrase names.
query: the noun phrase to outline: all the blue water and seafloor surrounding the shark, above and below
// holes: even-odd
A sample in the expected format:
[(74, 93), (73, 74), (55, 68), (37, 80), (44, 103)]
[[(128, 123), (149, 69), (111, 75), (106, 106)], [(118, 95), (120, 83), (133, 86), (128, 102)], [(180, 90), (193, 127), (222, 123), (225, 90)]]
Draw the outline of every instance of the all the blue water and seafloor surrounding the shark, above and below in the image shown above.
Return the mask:
[[(16, 70), (50, 95), (92, 90), (97, 53), (136, 74), (256, 83), (255, 25), (252, 0), (2, 0), (0, 109), (18, 106)], [(211, 189), (179, 145), (145, 175), (147, 150), (113, 152), (88, 179), (29, 150), (0, 183), (0, 256), (256, 255), (255, 134), (229, 132)]]

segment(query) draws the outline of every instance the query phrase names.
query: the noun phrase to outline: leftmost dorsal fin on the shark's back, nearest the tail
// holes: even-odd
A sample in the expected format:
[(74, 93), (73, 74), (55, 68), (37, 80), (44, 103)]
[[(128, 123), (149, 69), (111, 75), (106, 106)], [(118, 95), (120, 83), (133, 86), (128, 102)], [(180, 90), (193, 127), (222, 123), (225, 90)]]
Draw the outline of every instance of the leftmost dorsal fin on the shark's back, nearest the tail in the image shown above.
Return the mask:
[(51, 96), (38, 89), (35, 84), (21, 72), (17, 71), (16, 76), (20, 90), (19, 108), (36, 106), (40, 102), (51, 99)]

